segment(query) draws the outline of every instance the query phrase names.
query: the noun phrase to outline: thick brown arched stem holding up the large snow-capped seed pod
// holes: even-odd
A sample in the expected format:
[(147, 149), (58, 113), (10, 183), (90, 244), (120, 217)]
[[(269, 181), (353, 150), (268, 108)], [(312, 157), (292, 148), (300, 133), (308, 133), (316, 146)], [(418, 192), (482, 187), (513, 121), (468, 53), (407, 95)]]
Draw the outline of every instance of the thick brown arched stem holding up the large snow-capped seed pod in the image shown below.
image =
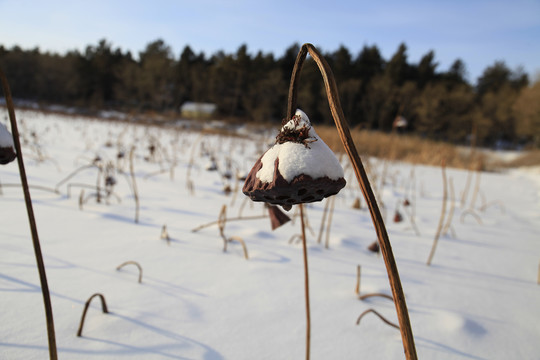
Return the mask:
[(326, 60), (321, 56), (319, 51), (311, 44), (302, 45), (296, 58), (296, 62), (294, 64), (291, 82), (289, 86), (287, 119), (291, 119), (294, 115), (294, 112), (296, 111), (297, 88), (300, 81), (300, 72), (302, 70), (302, 66), (308, 52), (319, 67), (319, 70), (323, 77), (324, 86), (328, 97), (328, 104), (330, 106), (330, 112), (332, 113), (332, 117), (338, 130), (341, 142), (343, 143), (343, 147), (345, 148), (345, 152), (349, 156), (349, 159), (353, 166), (354, 173), (356, 175), (358, 183), (360, 184), (362, 194), (368, 205), (371, 219), (377, 232), (381, 252), (388, 273), (390, 287), (392, 288), (393, 298), (395, 299), (394, 304), (396, 306), (396, 312), (400, 324), (399, 328), (401, 331), (401, 338), (403, 341), (405, 356), (408, 360), (415, 360), (417, 359), (417, 355), (414, 344), (414, 337), (409, 320), (407, 304), (405, 302), (405, 295), (401, 286), (401, 280), (399, 278), (399, 272), (392, 252), (390, 239), (388, 238), (383, 218), (377, 205), (373, 190), (371, 189), (371, 185), (369, 183), (366, 171), (364, 169), (364, 166), (362, 165), (362, 161), (360, 160), (360, 156), (358, 155), (356, 146), (354, 145), (354, 141), (349, 130), (349, 125), (345, 120), (345, 115), (343, 114), (343, 110), (341, 108), (338, 96), (339, 93), (332, 70), (330, 69), (330, 66), (328, 65)]

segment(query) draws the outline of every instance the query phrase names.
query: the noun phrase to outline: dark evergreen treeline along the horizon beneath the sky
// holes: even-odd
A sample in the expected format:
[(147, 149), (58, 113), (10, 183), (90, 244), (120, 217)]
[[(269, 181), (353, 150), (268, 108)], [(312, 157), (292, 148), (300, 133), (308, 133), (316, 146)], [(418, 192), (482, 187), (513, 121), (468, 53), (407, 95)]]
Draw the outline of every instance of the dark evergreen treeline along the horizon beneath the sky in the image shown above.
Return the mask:
[[(81, 53), (51, 54), (0, 46), (0, 66), (19, 99), (121, 111), (178, 111), (185, 101), (217, 104), (221, 117), (281, 121), (299, 45), (276, 58), (235, 53), (210, 57), (186, 46), (179, 56), (162, 40), (135, 58), (106, 40)], [(433, 139), (479, 145), (540, 145), (540, 84), (496, 61), (476, 84), (466, 80), (460, 59), (437, 69), (433, 51), (410, 63), (401, 44), (390, 59), (377, 46), (356, 55), (341, 46), (324, 53), (336, 77), (341, 104), (352, 126), (391, 131), (407, 119), (407, 131)], [(315, 122), (331, 122), (324, 84), (315, 64), (305, 64), (298, 105)]]

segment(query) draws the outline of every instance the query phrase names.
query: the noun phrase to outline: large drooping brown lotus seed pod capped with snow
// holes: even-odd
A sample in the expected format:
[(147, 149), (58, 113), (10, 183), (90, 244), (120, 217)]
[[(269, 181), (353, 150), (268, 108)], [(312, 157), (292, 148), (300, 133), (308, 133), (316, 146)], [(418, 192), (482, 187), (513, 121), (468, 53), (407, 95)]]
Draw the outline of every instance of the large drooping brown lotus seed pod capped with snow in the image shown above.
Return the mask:
[(343, 168), (330, 148), (297, 110), (287, 121), (276, 143), (251, 169), (243, 193), (253, 201), (292, 205), (320, 201), (337, 194), (346, 184)]

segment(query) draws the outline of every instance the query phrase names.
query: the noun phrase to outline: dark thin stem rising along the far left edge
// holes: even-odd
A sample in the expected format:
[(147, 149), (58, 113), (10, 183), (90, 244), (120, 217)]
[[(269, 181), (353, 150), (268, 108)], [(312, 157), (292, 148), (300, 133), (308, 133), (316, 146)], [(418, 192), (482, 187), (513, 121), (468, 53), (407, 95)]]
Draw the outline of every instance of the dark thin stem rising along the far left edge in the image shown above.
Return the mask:
[(45, 264), (43, 262), (43, 255), (41, 253), (41, 246), (39, 243), (39, 236), (37, 231), (36, 219), (34, 217), (34, 209), (32, 207), (32, 199), (30, 197), (30, 189), (28, 187), (28, 179), (26, 177), (26, 170), (24, 168), (23, 155), (21, 149), (21, 142), (19, 139), (19, 130), (17, 127), (17, 120), (15, 118), (15, 109), (13, 106), (13, 99), (11, 98), (11, 91), (6, 76), (2, 69), (0, 69), (0, 78), (2, 80), (2, 88), (4, 90), (4, 97), (6, 98), (6, 106), (9, 113), (9, 120), (11, 122), (11, 132), (13, 133), (13, 145), (17, 153), (17, 164), (19, 166), (19, 175), (21, 177), (21, 185), (24, 193), (24, 200), (26, 203), (26, 211), (28, 213), (28, 221), (30, 223), (30, 231), (32, 234), (32, 243), (34, 245), (34, 254), (36, 257), (39, 280), (41, 283), (41, 292), (43, 294), (43, 303), (45, 306), (45, 317), (47, 320), (47, 335), (49, 341), (49, 358), (51, 360), (58, 359), (58, 353), (56, 349), (56, 335), (54, 331), (54, 321), (51, 306), (51, 297), (49, 294), (49, 285), (47, 283), (47, 275), (45, 273)]

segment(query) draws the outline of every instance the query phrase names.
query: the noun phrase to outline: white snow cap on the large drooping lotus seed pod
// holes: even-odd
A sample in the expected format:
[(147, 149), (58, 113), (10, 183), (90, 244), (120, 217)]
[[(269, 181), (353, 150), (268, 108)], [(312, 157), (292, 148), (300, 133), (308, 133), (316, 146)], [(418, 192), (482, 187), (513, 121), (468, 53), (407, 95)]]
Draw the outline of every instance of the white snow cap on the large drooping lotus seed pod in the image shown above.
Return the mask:
[[(296, 110), (295, 115), (300, 116), (296, 126), (293, 120), (283, 125), (283, 128), (295, 129), (302, 126), (311, 126), (309, 118), (302, 110)], [(285, 142), (275, 144), (262, 157), (262, 167), (256, 176), (262, 182), (270, 183), (274, 179), (274, 163), (279, 158), (278, 170), (287, 182), (291, 182), (296, 176), (305, 174), (313, 179), (329, 177), (338, 180), (343, 177), (343, 168), (328, 145), (317, 135), (315, 130), (309, 129), (310, 142), (304, 144)]]

